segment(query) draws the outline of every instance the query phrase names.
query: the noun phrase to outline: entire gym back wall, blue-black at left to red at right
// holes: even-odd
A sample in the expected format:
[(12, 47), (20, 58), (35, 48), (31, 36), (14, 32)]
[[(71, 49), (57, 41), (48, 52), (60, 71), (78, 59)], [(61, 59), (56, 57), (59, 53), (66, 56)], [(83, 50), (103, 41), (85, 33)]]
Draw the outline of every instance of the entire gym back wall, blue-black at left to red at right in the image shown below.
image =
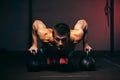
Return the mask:
[[(29, 40), (29, 1), (0, 1), (0, 49), (26, 50)], [(115, 50), (120, 50), (120, 1), (115, 1)], [(78, 19), (89, 25), (89, 43), (95, 50), (110, 50), (110, 27), (104, 14), (106, 0), (32, 0), (32, 21), (47, 26), (65, 22), (73, 28)], [(117, 15), (116, 15), (117, 14)], [(81, 44), (82, 45), (82, 44)], [(80, 45), (79, 45), (80, 46)], [(77, 46), (77, 49), (80, 49)]]

